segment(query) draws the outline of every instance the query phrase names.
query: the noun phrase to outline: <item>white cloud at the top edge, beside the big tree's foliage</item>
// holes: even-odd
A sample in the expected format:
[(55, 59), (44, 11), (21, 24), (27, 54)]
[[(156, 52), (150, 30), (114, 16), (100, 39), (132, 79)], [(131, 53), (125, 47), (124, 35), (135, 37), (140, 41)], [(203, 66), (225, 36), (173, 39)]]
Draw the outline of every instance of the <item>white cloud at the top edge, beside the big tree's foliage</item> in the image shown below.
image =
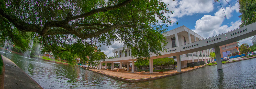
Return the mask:
[(179, 18), (196, 13), (208, 13), (214, 9), (212, 0), (163, 0), (163, 2), (169, 4), (168, 9), (170, 11), (175, 11), (174, 14), (168, 14), (170, 17)]

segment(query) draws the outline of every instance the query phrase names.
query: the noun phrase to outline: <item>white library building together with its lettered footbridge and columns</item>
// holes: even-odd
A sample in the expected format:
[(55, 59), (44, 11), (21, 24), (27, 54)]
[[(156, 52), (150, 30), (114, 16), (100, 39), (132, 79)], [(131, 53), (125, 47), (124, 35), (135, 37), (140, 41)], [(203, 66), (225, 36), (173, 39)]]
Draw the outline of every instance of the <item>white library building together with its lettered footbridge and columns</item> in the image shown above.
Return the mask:
[[(156, 58), (176, 56), (177, 72), (181, 72), (181, 68), (186, 66), (185, 63), (190, 61), (205, 61), (206, 63), (207, 60), (209, 60), (209, 62), (211, 62), (212, 59), (208, 55), (210, 52), (212, 52), (213, 47), (216, 54), (217, 70), (219, 70), (222, 69), (221, 53), (219, 47), (254, 36), (256, 34), (256, 22), (206, 39), (203, 39), (201, 36), (185, 26), (181, 26), (168, 31), (167, 34), (165, 34), (168, 39), (168, 44), (166, 46), (167, 51), (160, 52), (161, 56), (157, 57), (154, 54), (150, 55), (150, 73), (153, 73), (153, 59)], [(112, 63), (112, 70), (114, 63), (119, 63), (120, 65), (124, 63), (129, 65), (132, 63), (131, 71), (134, 72), (134, 61), (136, 60), (129, 56), (132, 50), (127, 48), (124, 49), (124, 53), (122, 53), (122, 48), (114, 49), (113, 53), (115, 58), (107, 59), (102, 62)], [(120, 68), (121, 67), (122, 66), (120, 66)]]

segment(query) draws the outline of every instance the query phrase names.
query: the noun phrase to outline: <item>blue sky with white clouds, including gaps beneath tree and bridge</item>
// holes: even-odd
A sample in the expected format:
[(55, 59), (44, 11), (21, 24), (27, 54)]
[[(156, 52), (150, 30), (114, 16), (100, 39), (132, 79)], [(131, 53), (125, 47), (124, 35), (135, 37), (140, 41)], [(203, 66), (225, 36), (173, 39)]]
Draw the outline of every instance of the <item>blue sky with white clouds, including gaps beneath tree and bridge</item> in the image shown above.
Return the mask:
[[(178, 22), (178, 25), (169, 24), (167, 31), (184, 25), (203, 38), (208, 38), (239, 28), (241, 24), (239, 4), (237, 0), (226, 1), (221, 0), (218, 3), (214, 2), (214, 0), (163, 0), (165, 4), (169, 4), (167, 8), (170, 11), (175, 11), (173, 14), (168, 13), (165, 15), (170, 16), (170, 19), (174, 22)], [(248, 43), (251, 46), (252, 37), (238, 42), (240, 44)], [(109, 57), (114, 55), (113, 49), (120, 47), (123, 47), (122, 43), (113, 42), (110, 47), (102, 45), (101, 51)]]

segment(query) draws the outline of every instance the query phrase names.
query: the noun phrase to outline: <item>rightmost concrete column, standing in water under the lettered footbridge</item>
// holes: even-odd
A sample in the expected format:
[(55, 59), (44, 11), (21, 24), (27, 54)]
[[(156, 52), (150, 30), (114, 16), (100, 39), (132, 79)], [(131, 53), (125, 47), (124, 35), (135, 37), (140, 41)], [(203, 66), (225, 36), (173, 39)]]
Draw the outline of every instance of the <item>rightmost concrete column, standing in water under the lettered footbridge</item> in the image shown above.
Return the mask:
[(222, 69), (221, 56), (220, 56), (220, 47), (219, 46), (214, 46), (214, 49), (215, 49), (217, 70), (219, 70), (219, 69)]

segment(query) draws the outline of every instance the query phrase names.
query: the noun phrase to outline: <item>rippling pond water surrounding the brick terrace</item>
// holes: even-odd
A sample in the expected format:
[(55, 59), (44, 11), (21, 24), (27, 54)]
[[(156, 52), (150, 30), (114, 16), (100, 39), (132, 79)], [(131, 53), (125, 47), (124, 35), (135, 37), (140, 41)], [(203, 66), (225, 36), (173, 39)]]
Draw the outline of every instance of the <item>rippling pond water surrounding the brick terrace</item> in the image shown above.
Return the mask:
[(222, 64), (223, 69), (206, 66), (167, 78), (128, 83), (93, 73), (77, 66), (29, 59), (3, 53), (43, 88), (256, 88), (256, 59)]

